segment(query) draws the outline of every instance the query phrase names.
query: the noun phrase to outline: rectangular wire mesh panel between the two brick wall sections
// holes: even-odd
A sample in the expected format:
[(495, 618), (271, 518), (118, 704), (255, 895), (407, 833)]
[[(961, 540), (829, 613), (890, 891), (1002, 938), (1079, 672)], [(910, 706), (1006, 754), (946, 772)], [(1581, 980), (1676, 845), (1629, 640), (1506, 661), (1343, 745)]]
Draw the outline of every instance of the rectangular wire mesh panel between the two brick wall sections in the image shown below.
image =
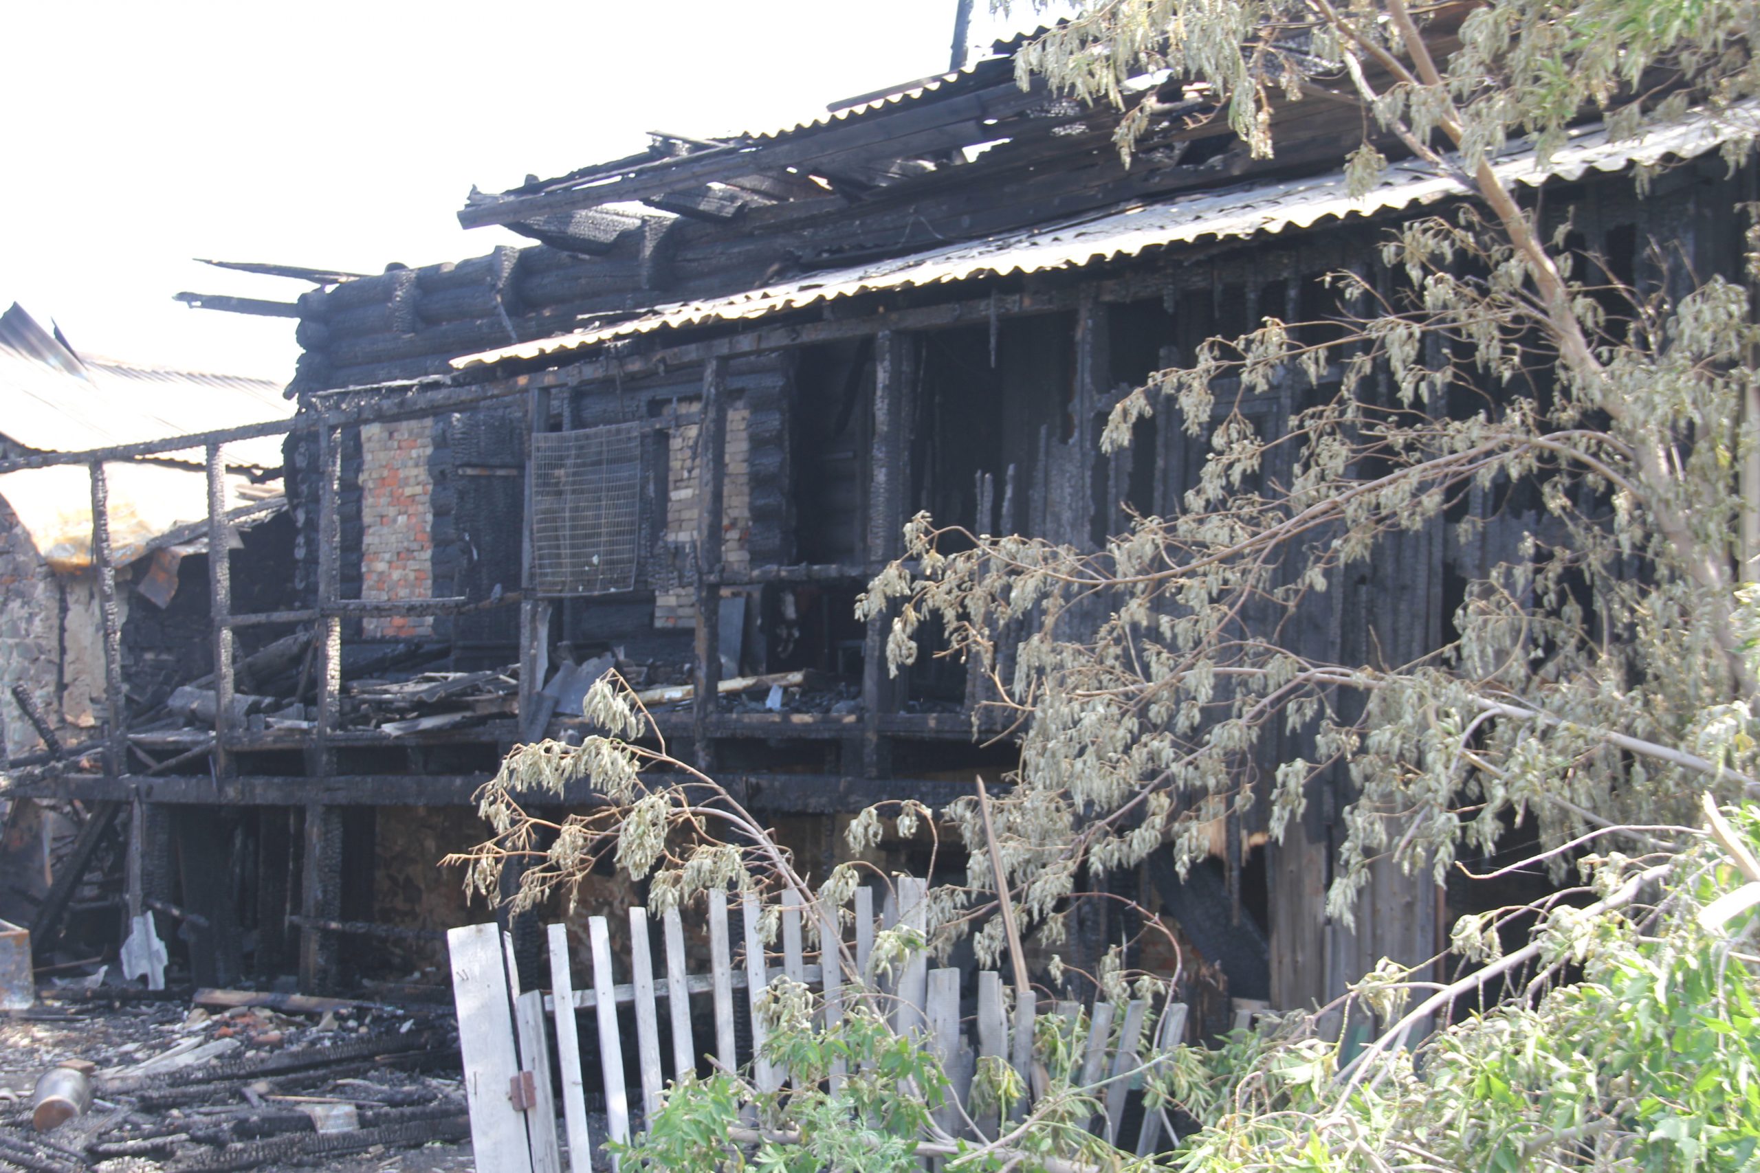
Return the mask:
[(642, 424), (532, 436), (532, 589), (602, 594), (635, 586)]

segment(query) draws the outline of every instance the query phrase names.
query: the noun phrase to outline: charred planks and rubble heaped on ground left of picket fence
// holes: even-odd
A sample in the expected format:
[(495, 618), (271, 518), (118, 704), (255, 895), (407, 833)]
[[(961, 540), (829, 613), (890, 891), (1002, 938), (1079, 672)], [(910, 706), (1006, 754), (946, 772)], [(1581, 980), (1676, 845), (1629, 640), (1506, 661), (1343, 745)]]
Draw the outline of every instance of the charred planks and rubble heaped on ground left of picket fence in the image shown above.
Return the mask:
[(445, 1008), (99, 994), (0, 1020), (0, 1169), (331, 1168), (470, 1134)]

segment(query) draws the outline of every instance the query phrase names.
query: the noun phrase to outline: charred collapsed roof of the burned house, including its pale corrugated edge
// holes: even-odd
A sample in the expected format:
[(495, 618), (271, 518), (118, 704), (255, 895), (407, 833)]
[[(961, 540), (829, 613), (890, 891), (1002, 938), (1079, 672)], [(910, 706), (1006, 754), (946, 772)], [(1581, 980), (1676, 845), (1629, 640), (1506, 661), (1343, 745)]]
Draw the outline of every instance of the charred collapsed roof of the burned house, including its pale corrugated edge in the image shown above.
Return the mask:
[[(1448, 28), (1433, 32), (1440, 47), (1452, 42)], [(1084, 107), (1044, 83), (1023, 88), (1019, 42), (781, 130), (655, 132), (644, 153), (498, 195), (473, 192), (461, 222), (503, 223), (544, 246), (306, 294), (290, 394), (788, 310), (832, 313), (831, 302), (859, 294), (1007, 283), (1463, 193), (1447, 176), (1396, 164), (1366, 199), (1352, 199), (1338, 165), (1375, 121), (1353, 95), (1315, 84), (1278, 100), (1278, 153), (1251, 158), (1207, 91), (1144, 77), (1139, 93), (1155, 116), (1125, 162), (1119, 111)], [(1624, 142), (1582, 127), (1544, 167), (1526, 149), (1501, 165), (1512, 183), (1538, 186), (1584, 169), (1690, 158), (1751, 137), (1753, 111), (1735, 114)], [(1403, 149), (1380, 146), (1394, 158)]]

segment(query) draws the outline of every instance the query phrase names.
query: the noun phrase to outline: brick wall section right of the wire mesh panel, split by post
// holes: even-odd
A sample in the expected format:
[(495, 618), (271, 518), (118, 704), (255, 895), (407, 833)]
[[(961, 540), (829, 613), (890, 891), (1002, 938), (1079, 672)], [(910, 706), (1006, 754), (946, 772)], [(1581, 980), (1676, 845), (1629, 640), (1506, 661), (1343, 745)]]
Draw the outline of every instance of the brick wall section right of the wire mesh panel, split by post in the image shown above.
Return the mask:
[[(722, 561), (732, 572), (752, 566), (752, 412), (727, 408), (727, 454), (722, 480)], [(690, 565), (697, 543), (697, 426), (681, 424), (667, 436), (665, 529), (660, 542), (676, 566)], [(655, 593), (656, 628), (697, 626), (697, 593), (688, 582)]]

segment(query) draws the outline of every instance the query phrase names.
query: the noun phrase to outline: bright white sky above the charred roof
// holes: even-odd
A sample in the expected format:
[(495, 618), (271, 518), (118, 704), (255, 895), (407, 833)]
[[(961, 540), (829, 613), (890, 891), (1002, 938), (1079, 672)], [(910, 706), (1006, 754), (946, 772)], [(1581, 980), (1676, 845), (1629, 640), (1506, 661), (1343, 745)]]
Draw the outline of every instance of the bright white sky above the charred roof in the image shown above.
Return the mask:
[[(987, 46), (1001, 23), (975, 9)], [(310, 287), (192, 257), (378, 273), (523, 243), (459, 229), (472, 183), (561, 174), (646, 130), (813, 118), (945, 69), (952, 18), (954, 0), (9, 5), (0, 308), (92, 353), (287, 380), (290, 318), (171, 297)]]

